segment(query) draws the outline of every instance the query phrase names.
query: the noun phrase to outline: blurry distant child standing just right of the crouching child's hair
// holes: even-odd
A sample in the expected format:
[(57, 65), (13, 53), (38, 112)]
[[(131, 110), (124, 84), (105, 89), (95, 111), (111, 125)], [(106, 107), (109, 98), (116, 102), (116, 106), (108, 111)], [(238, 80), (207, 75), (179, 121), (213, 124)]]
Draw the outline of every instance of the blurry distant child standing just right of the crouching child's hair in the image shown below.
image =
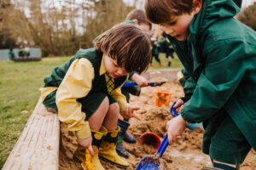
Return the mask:
[(152, 58), (150, 60), (150, 67), (152, 68), (153, 67), (153, 58), (159, 63), (159, 66), (161, 66), (161, 61), (159, 59), (159, 44), (157, 42), (157, 33), (154, 31), (151, 35), (151, 54), (152, 54)]

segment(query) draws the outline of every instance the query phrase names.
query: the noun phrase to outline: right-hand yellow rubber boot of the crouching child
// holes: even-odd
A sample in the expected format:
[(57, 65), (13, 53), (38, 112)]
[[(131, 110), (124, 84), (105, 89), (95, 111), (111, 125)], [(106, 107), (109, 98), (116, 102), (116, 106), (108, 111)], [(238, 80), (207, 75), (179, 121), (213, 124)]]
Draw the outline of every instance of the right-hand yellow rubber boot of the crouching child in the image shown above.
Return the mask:
[(117, 167), (129, 167), (129, 163), (123, 160), (116, 152), (116, 142), (119, 137), (120, 127), (115, 131), (108, 131), (106, 137), (102, 141), (99, 150), (99, 157), (102, 161), (108, 161)]

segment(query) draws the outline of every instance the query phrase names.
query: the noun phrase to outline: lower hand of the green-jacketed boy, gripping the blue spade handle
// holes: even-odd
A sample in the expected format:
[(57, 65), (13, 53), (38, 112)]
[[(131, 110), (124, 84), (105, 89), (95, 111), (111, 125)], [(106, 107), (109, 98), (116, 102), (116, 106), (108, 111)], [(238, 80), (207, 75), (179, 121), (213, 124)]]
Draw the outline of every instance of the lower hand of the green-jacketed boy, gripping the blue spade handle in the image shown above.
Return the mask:
[(167, 122), (166, 129), (168, 133), (169, 144), (175, 142), (177, 136), (180, 136), (185, 128), (186, 122), (181, 115), (174, 117), (169, 122)]

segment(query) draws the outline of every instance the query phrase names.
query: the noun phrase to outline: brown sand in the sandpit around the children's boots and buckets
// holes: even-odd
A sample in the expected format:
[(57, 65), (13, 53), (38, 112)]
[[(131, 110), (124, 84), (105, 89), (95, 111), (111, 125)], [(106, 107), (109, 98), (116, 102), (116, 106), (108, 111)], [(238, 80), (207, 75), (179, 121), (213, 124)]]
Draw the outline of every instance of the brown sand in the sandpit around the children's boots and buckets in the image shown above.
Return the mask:
[[(166, 81), (162, 77), (154, 78), (150, 81)], [(157, 107), (154, 105), (154, 90), (164, 89), (171, 90), (172, 97), (170, 105), (162, 105)], [(131, 105), (141, 107), (140, 111), (137, 111), (137, 115), (142, 118), (142, 121), (138, 121), (135, 118), (131, 118), (131, 126), (128, 129), (128, 133), (133, 134), (136, 139), (143, 133), (151, 132), (156, 133), (162, 140), (166, 135), (166, 122), (172, 119), (170, 115), (170, 107), (174, 101), (183, 96), (183, 88), (173, 82), (167, 82), (161, 87), (156, 88), (142, 88), (141, 95), (139, 97), (131, 96)], [(203, 130), (197, 128), (194, 131), (186, 129), (182, 136), (177, 138), (175, 144), (169, 145), (162, 157), (162, 161), (167, 170), (197, 170), (202, 167), (211, 167), (211, 161), (208, 156), (201, 152), (201, 139), (203, 136)], [(126, 144), (124, 142), (125, 149), (130, 153), (130, 157), (125, 159), (129, 161), (130, 167), (127, 170), (133, 170), (137, 167), (138, 162), (143, 156), (149, 156), (154, 154), (154, 149), (145, 144)], [(61, 150), (60, 150), (60, 170), (74, 170), (82, 169), (78, 162), (73, 161), (73, 152), (77, 148), (77, 143), (74, 133), (67, 132), (65, 124), (61, 123)], [(150, 153), (151, 152), (151, 153)], [(152, 153), (153, 152), (153, 153)], [(102, 161), (103, 167), (111, 170), (118, 170), (109, 163)], [(241, 165), (241, 170), (256, 169), (256, 152), (251, 150), (246, 160)]]

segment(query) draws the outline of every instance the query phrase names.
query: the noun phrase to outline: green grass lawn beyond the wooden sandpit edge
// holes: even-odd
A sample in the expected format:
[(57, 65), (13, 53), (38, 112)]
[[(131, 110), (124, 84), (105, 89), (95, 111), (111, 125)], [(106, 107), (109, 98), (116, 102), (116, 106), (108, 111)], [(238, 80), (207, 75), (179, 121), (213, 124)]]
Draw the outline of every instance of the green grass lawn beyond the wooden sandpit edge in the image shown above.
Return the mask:
[[(49, 57), (42, 61), (20, 62), (0, 60), (0, 169), (13, 149), (17, 139), (40, 96), (43, 79), (55, 66), (69, 57)], [(160, 54), (162, 67), (154, 60), (153, 69), (167, 68), (164, 54)], [(181, 68), (175, 57), (171, 68)], [(152, 70), (152, 69), (150, 69)]]

